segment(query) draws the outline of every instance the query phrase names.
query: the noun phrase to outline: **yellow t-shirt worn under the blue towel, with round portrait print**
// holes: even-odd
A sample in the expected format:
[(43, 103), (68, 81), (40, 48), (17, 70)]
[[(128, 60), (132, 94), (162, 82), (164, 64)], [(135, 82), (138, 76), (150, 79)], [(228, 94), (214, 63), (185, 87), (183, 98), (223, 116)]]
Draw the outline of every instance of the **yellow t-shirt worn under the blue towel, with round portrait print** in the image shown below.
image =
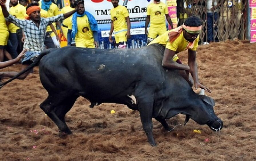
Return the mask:
[[(83, 17), (77, 17), (77, 33), (75, 37), (75, 41), (83, 41), (93, 39), (93, 32), (91, 30), (88, 17), (84, 15)], [(72, 19), (69, 21), (68, 24), (69, 30), (72, 30)]]

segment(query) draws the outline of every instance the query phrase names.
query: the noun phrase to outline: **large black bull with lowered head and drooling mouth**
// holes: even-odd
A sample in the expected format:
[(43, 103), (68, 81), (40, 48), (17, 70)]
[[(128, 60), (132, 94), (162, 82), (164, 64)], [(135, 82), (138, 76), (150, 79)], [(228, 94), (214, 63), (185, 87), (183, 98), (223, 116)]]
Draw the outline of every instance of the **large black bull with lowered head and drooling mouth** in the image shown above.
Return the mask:
[(1, 86), (40, 61), (40, 80), (49, 94), (40, 108), (60, 132), (67, 134), (71, 131), (65, 115), (79, 96), (91, 101), (91, 107), (100, 103), (120, 103), (138, 110), (151, 145), (156, 145), (152, 117), (167, 130), (171, 128), (165, 119), (179, 113), (186, 115), (185, 122), (191, 118), (214, 131), (220, 130), (223, 123), (214, 113), (213, 99), (194, 93), (178, 71), (162, 67), (163, 52), (164, 47), (158, 44), (140, 49), (64, 47), (48, 50)]

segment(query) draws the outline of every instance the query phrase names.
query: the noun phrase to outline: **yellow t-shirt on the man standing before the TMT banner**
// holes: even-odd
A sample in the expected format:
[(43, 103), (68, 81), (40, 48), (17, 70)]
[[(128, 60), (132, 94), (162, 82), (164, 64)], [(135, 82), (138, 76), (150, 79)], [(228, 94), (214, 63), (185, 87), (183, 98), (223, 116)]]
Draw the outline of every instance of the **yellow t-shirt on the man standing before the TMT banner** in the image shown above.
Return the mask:
[(129, 16), (127, 8), (118, 5), (110, 10), (111, 20), (113, 20), (115, 33), (121, 30), (127, 30), (126, 17)]

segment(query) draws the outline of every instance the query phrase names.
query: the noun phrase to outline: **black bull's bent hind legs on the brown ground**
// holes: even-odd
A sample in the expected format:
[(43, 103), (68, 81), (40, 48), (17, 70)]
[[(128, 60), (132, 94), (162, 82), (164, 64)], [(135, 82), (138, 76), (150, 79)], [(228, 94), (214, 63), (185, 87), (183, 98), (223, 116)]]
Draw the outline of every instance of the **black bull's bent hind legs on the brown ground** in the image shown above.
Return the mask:
[(74, 105), (77, 97), (63, 97), (49, 95), (47, 99), (40, 104), (40, 108), (47, 114), (48, 117), (59, 127), (60, 132), (72, 134), (65, 122), (65, 114)]

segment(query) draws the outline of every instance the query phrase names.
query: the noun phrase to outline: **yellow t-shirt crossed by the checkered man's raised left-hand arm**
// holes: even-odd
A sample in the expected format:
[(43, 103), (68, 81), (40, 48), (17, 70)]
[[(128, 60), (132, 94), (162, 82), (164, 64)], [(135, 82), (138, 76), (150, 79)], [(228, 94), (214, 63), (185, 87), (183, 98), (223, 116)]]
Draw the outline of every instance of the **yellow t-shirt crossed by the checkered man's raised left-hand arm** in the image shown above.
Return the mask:
[[(9, 13), (20, 20), (24, 20), (28, 16), (26, 13), (26, 8), (19, 3), (16, 6), (12, 6)], [(20, 27), (14, 25), (13, 23), (8, 25), (8, 29), (11, 33), (16, 33), (16, 30), (19, 28)]]

